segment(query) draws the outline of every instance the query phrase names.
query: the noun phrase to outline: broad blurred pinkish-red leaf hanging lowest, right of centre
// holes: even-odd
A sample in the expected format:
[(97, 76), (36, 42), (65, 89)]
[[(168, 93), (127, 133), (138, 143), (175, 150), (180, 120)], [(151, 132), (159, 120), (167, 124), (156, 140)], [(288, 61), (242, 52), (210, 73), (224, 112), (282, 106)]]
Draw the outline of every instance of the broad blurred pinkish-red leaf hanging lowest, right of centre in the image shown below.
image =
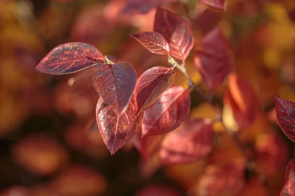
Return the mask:
[(209, 119), (186, 120), (165, 136), (161, 149), (162, 164), (185, 164), (202, 159), (211, 151), (214, 131)]

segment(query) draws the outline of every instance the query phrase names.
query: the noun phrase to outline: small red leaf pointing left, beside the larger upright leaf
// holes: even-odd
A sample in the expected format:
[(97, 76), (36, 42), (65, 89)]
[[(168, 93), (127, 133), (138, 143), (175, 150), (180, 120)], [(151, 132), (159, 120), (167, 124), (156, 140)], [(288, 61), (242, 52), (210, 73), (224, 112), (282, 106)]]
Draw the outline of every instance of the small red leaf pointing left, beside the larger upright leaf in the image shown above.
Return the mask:
[(130, 35), (139, 41), (146, 49), (156, 54), (169, 54), (169, 45), (163, 35), (157, 32), (142, 32)]

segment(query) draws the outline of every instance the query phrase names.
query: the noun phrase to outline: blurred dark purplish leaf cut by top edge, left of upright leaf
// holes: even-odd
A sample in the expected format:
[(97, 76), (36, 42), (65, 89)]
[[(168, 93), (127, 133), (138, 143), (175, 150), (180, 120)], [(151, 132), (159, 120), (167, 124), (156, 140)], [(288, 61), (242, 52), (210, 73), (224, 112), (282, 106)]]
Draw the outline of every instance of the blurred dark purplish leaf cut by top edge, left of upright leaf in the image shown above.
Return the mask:
[(126, 0), (122, 14), (146, 14), (155, 7), (160, 7), (175, 0)]

